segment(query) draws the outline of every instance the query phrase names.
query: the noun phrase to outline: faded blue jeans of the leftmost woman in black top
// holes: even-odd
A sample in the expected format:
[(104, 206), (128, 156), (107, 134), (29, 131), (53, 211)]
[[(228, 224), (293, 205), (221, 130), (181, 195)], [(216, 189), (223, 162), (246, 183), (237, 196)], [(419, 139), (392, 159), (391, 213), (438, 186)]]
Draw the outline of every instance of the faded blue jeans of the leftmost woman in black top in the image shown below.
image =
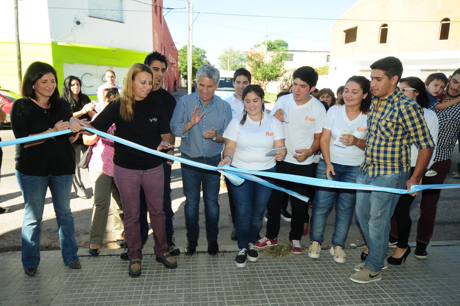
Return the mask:
[(74, 217), (70, 211), (70, 189), (73, 174), (34, 176), (16, 171), (16, 179), (24, 197), (22, 230), (22, 262), (24, 268), (40, 264), (40, 224), (45, 207), (46, 190), (50, 187), (56, 213), (59, 242), (64, 265), (80, 260), (74, 234)]

